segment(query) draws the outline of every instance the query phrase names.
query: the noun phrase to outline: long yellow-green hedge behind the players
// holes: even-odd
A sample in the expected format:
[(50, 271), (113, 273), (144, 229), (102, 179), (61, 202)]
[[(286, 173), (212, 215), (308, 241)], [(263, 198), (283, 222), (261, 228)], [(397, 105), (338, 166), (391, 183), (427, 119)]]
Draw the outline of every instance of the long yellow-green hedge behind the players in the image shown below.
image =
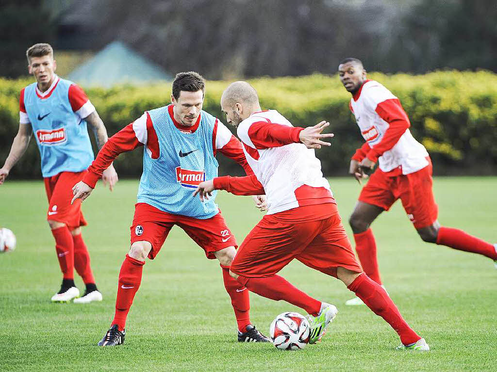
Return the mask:
[[(487, 71), (438, 71), (423, 75), (380, 73), (369, 78), (386, 85), (399, 97), (411, 119), (411, 131), (430, 153), (436, 174), (497, 174), (497, 75)], [(19, 91), (32, 79), (0, 78), (0, 165), (18, 128)], [(313, 74), (300, 77), (261, 77), (250, 82), (262, 108), (277, 109), (296, 126), (321, 120), (335, 134), (330, 148), (317, 151), (325, 175), (345, 175), (350, 156), (362, 143), (349, 112), (350, 94), (338, 77)], [(219, 100), (224, 81), (208, 81), (204, 110), (225, 118)], [(87, 88), (109, 135), (116, 133), (143, 111), (169, 103), (170, 82), (147, 86)], [(234, 130), (233, 128), (231, 128)], [(35, 141), (12, 169), (12, 178), (38, 178), (40, 160)], [(218, 156), (221, 174), (241, 174), (231, 160)], [(142, 150), (121, 155), (116, 161), (121, 176), (139, 176)]]

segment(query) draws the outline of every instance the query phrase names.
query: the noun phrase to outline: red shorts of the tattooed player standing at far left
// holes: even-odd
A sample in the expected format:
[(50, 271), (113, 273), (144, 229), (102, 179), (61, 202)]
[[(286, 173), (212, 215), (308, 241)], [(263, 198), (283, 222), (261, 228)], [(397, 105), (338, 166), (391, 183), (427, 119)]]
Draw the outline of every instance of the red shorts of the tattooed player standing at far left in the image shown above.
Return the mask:
[(69, 229), (86, 226), (81, 212), (81, 199), (71, 205), (73, 186), (83, 179), (83, 172), (61, 172), (52, 177), (45, 177), (45, 191), (48, 197), (47, 220), (65, 223)]

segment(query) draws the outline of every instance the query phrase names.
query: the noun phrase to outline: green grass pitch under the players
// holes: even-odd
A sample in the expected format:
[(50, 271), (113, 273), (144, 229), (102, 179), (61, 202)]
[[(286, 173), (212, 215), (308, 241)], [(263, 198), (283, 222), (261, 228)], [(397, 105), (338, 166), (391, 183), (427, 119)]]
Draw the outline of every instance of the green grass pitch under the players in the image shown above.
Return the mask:
[[(359, 187), (331, 179), (346, 220)], [(373, 225), (380, 270), (391, 297), (428, 353), (398, 352), (397, 334), (364, 306), (348, 307), (341, 282), (293, 262), (281, 274), (340, 310), (323, 342), (282, 352), (270, 344), (236, 342), (236, 323), (217, 261), (179, 228), (148, 261), (127, 323), (126, 343), (98, 348), (114, 313), (117, 275), (129, 247), (138, 182), (113, 193), (97, 187), (84, 202), (83, 236), (104, 295), (89, 305), (53, 304), (61, 275), (45, 221), (41, 181), (0, 187), (0, 225), (17, 235), (17, 250), (0, 255), (0, 370), (18, 371), (474, 371), (497, 370), (497, 270), (477, 255), (422, 242), (401, 208)], [(436, 178), (439, 221), (497, 241), (497, 177)], [(248, 197), (221, 192), (218, 203), (241, 242), (261, 218)], [(349, 230), (348, 230), (349, 231)], [(84, 290), (80, 278), (76, 279)], [(250, 295), (252, 321), (264, 333), (286, 302)]]

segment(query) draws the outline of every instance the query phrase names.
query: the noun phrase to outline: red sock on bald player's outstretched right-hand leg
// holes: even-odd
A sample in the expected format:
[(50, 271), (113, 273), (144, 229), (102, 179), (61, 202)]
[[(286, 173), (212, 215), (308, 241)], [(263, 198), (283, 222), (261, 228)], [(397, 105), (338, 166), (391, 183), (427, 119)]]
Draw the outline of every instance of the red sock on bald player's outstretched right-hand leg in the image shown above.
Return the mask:
[(378, 316), (381, 316), (399, 334), (404, 345), (410, 345), (421, 337), (414, 332), (392, 299), (385, 290), (376, 282), (367, 277), (365, 273), (359, 275), (347, 287)]

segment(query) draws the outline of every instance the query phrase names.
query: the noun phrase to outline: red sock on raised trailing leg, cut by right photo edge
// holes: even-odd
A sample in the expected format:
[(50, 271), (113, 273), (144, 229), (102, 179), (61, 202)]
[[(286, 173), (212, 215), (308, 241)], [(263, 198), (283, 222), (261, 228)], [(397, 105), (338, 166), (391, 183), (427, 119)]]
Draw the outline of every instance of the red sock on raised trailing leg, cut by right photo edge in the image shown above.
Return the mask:
[(457, 228), (440, 227), (436, 243), (459, 249), (460, 251), (479, 253), (497, 260), (497, 252), (493, 244), (487, 243)]

